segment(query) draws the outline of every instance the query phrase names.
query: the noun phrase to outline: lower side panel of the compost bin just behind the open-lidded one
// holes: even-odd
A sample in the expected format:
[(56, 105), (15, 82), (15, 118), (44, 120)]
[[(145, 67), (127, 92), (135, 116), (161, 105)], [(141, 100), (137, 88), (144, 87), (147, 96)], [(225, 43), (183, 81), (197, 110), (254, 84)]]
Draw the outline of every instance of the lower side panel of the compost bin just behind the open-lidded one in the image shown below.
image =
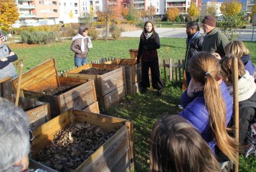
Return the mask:
[(122, 98), (125, 97), (125, 85), (122, 85), (121, 87), (115, 89), (114, 91), (110, 92), (109, 94), (106, 94), (104, 98), (104, 108), (109, 109), (114, 104), (119, 103)]

